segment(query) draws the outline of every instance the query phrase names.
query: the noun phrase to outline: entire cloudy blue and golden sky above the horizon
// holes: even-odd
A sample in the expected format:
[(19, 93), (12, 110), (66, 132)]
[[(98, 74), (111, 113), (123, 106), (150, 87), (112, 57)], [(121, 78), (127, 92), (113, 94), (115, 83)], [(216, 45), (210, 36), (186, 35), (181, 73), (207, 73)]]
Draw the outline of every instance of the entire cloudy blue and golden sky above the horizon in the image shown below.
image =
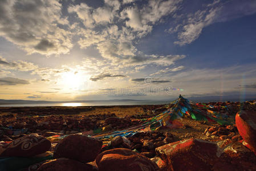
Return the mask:
[(1, 0), (0, 99), (256, 99), (256, 1)]

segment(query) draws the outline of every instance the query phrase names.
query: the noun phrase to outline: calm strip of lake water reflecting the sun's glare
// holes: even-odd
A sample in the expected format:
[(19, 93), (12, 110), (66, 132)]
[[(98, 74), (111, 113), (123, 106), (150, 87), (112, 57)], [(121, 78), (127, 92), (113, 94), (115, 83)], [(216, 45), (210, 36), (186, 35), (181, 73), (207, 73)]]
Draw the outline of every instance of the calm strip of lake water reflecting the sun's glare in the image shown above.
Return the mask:
[(94, 105), (152, 105), (168, 104), (170, 101), (120, 101), (120, 102), (93, 102), (93, 103), (36, 103), (36, 104), (2, 104), (0, 107), (40, 107), (40, 106), (94, 106)]

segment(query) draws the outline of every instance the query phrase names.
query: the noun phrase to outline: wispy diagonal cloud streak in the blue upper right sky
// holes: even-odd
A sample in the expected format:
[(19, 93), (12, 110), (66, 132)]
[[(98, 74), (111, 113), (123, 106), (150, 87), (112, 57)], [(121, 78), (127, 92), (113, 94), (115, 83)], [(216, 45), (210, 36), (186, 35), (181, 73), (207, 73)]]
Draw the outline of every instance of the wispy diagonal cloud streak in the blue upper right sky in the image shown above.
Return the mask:
[(255, 1), (213, 1), (208, 5), (203, 5), (203, 9), (195, 13), (185, 14), (177, 18), (176, 26), (169, 28), (170, 34), (177, 32), (178, 41), (174, 44), (183, 46), (192, 43), (200, 36), (202, 29), (213, 23), (226, 22), (231, 19), (240, 18), (245, 15), (256, 13)]

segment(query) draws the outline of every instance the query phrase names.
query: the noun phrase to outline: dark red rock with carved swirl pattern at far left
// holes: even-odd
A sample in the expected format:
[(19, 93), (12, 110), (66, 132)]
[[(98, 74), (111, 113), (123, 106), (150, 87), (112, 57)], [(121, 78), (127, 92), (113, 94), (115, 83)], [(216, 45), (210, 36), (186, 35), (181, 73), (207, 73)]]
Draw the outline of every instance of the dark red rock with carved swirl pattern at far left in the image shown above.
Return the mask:
[(51, 148), (51, 141), (36, 133), (23, 136), (4, 146), (0, 157), (31, 157)]

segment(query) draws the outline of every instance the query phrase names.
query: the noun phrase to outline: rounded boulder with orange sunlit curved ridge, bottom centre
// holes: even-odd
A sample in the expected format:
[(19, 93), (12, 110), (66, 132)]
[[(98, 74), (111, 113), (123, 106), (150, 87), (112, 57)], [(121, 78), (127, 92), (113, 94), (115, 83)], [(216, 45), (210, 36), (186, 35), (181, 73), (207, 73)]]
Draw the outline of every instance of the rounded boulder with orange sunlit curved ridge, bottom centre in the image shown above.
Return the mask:
[(100, 153), (96, 157), (96, 164), (99, 170), (104, 171), (159, 170), (155, 162), (149, 158), (125, 148), (116, 148)]

